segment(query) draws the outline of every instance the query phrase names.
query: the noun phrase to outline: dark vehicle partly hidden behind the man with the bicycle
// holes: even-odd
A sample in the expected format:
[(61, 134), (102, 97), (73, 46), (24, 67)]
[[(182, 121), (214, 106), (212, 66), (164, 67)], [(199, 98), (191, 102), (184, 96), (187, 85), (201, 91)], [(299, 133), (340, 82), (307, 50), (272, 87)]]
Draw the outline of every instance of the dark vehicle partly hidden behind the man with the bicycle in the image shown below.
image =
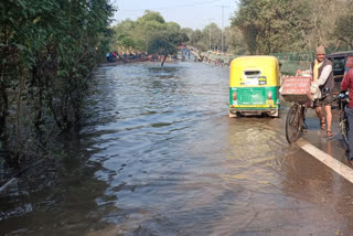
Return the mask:
[(331, 53), (327, 56), (332, 62), (332, 71), (335, 83), (341, 83), (344, 74), (345, 61), (349, 55), (353, 55), (353, 51)]

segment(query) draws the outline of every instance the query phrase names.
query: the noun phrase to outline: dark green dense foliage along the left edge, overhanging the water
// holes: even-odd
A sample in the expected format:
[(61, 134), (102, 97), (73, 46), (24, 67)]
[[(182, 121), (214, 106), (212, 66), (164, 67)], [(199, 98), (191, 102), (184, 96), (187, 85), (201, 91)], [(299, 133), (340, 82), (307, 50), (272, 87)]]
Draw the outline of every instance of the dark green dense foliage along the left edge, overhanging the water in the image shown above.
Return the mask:
[(114, 9), (107, 0), (4, 0), (0, 10), (0, 167), (19, 167), (79, 128)]

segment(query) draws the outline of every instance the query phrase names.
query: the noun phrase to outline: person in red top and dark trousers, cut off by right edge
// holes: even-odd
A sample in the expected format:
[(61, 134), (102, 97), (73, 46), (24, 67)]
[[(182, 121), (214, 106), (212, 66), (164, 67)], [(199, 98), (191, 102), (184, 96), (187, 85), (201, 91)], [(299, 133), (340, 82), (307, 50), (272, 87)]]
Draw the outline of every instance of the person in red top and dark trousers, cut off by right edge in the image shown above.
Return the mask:
[[(346, 68), (353, 67), (353, 55), (350, 55), (346, 60)], [(341, 90), (349, 90), (350, 103), (347, 108), (345, 109), (345, 114), (349, 120), (349, 158), (353, 160), (353, 69), (349, 69), (347, 73), (344, 74), (343, 81), (341, 83)]]

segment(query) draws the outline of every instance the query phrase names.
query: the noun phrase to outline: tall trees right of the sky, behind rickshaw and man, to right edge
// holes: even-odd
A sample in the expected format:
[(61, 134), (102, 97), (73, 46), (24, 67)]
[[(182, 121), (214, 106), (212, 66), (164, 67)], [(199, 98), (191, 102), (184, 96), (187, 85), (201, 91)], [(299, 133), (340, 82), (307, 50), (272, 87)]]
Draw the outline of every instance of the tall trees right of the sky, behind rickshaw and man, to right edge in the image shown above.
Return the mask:
[(227, 42), (236, 54), (239, 43), (250, 54), (352, 50), (352, 12), (351, 0), (240, 0)]

